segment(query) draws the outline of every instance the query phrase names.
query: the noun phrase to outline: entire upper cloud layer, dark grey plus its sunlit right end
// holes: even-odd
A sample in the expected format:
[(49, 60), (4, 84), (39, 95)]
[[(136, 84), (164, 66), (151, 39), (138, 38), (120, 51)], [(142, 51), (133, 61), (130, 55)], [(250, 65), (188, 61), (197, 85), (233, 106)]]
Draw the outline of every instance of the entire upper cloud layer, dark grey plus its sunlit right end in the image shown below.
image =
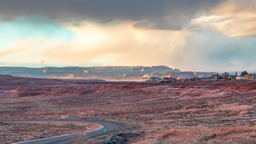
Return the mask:
[(254, 0), (9, 0), (1, 2), (0, 15), (3, 21), (72, 22), (74, 26), (91, 21), (134, 22), (137, 29), (211, 29), (235, 37), (256, 34), (255, 9)]

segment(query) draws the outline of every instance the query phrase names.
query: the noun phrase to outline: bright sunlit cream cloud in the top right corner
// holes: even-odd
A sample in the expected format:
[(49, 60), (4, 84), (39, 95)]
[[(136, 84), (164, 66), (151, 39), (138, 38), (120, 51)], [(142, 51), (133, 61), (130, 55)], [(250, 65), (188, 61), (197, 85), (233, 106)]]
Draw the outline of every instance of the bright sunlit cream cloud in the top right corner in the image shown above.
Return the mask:
[(228, 0), (190, 21), (191, 29), (211, 29), (229, 37), (256, 35), (256, 1)]

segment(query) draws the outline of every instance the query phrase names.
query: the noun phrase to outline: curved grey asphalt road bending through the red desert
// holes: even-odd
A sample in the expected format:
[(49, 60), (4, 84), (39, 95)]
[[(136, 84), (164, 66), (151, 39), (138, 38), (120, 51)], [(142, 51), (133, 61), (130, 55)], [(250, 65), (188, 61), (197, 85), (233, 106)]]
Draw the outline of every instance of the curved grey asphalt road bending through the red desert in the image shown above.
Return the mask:
[[(109, 122), (109, 121), (99, 121), (99, 120), (84, 120), (84, 119), (27, 119), (27, 120), (10, 120), (10, 121), (0, 121), (0, 122), (84, 122), (84, 123), (93, 123), (98, 124), (101, 127), (91, 131), (85, 131), (86, 133), (84, 137), (91, 137), (96, 135), (101, 135), (104, 133), (110, 133), (112, 131), (118, 130), (123, 128), (123, 124), (117, 122)], [(104, 129), (107, 129), (107, 132), (104, 132)], [(65, 143), (72, 143), (79, 134), (83, 133), (76, 133), (76, 134), (69, 134), (69, 135), (61, 135), (61, 136), (54, 136), (48, 137), (39, 140), (32, 140), (32, 141), (25, 141), (25, 142), (18, 142), (22, 144), (65, 144)], [(17, 143), (16, 143), (17, 144)]]

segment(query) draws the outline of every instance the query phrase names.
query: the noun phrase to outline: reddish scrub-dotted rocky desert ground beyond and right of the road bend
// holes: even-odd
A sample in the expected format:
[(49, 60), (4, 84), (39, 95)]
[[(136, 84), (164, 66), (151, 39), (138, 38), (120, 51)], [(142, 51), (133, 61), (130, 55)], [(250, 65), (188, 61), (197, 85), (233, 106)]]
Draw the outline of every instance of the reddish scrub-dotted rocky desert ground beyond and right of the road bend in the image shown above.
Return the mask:
[(48, 82), (1, 88), (0, 118), (117, 121), (136, 133), (124, 143), (256, 142), (255, 80)]

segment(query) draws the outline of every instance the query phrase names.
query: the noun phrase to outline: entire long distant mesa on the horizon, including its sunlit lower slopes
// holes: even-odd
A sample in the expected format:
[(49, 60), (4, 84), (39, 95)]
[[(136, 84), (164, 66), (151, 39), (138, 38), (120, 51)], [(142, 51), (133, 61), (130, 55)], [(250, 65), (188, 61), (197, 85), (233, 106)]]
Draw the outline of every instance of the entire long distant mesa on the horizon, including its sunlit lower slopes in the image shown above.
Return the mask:
[[(83, 80), (107, 80), (107, 81), (146, 81), (151, 77), (168, 77), (177, 80), (192, 79), (200, 77), (201, 79), (210, 77), (216, 73), (181, 71), (172, 69), (163, 65), (153, 67), (143, 66), (116, 66), (116, 67), (44, 67), (44, 68), (26, 68), (26, 67), (0, 67), (2, 81), (8, 82), (20, 81), (20, 76), (38, 77), (48, 79), (83, 79)], [(8, 74), (8, 75), (6, 75)], [(18, 77), (13, 77), (18, 76)], [(15, 78), (15, 79), (14, 79)], [(1, 76), (0, 76), (1, 79)], [(10, 81), (13, 80), (13, 81)], [(29, 81), (27, 81), (29, 82)], [(42, 82), (42, 81), (41, 81)], [(18, 86), (17, 86), (18, 87)], [(15, 87), (15, 88), (17, 88)], [(19, 90), (19, 89), (18, 89)]]

